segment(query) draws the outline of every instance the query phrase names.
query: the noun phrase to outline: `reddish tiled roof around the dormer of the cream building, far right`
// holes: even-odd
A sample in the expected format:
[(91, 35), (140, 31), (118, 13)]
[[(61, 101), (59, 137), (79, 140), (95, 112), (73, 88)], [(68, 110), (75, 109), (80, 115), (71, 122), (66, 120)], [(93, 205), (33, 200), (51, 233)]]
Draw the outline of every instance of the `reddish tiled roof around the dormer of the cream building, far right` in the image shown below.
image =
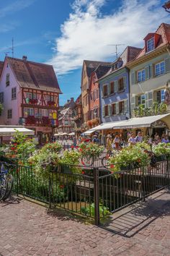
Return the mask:
[[(167, 43), (170, 43), (170, 24), (161, 23), (161, 25), (158, 27), (154, 34), (161, 35), (158, 43), (156, 45), (156, 49), (161, 48), (162, 46), (165, 46)], [(139, 59), (140, 57), (144, 56), (146, 54), (146, 48), (143, 47), (142, 51), (136, 56), (135, 59)]]

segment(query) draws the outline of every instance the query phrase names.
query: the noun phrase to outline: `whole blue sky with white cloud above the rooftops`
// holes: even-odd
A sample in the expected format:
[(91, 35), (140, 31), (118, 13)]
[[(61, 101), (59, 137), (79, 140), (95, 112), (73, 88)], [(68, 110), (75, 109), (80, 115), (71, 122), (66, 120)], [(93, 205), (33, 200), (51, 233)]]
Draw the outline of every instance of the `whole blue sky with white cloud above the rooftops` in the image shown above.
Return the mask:
[(80, 94), (84, 59), (112, 61), (115, 43), (143, 47), (143, 38), (169, 14), (164, 0), (0, 0), (0, 59), (27, 55), (53, 64), (60, 104)]

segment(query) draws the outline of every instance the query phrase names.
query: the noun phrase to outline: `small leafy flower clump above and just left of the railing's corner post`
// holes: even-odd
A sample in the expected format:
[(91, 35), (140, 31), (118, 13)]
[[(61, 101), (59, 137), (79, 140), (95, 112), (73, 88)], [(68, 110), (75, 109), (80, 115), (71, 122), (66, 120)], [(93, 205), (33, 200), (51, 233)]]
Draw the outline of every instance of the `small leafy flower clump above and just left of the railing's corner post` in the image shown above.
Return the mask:
[(82, 142), (79, 145), (81, 156), (86, 157), (86, 156), (91, 156), (94, 158), (99, 157), (99, 155), (103, 152), (104, 147), (99, 146), (96, 143), (93, 142)]

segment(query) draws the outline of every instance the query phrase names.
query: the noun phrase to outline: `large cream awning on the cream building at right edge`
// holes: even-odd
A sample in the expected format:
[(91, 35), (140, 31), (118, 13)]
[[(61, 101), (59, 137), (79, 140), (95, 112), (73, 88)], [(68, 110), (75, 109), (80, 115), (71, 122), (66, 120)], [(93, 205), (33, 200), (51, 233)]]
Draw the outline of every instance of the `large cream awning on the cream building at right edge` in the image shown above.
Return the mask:
[(128, 128), (140, 128), (140, 127), (151, 127), (155, 121), (163, 119), (170, 114), (162, 114), (157, 116), (144, 116), (134, 117), (125, 121), (121, 121), (120, 124), (113, 127), (113, 129), (128, 129)]

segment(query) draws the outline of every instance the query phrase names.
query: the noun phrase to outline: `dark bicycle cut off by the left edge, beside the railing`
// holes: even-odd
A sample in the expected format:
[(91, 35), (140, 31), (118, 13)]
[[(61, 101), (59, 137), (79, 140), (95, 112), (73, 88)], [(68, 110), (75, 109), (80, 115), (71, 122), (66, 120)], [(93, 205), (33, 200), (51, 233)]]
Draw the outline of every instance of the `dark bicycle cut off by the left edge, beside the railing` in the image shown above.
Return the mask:
[(0, 170), (0, 200), (6, 200), (11, 195), (14, 178), (9, 174), (9, 170), (4, 168), (4, 165), (10, 166), (7, 163), (2, 163)]

